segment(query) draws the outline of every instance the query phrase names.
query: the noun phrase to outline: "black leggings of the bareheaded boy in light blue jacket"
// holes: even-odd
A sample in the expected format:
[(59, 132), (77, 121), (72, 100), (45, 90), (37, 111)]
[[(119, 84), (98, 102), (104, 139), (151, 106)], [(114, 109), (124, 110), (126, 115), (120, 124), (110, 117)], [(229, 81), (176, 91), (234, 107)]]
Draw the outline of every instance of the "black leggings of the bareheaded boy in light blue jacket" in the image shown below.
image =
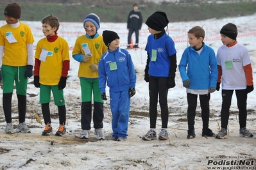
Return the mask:
[[(196, 105), (198, 95), (187, 93), (187, 124), (189, 131), (194, 130), (194, 118), (196, 117)], [(209, 127), (209, 116), (210, 116), (210, 93), (207, 95), (199, 95), (200, 107), (201, 107), (201, 119), (203, 121), (203, 130), (207, 130)]]

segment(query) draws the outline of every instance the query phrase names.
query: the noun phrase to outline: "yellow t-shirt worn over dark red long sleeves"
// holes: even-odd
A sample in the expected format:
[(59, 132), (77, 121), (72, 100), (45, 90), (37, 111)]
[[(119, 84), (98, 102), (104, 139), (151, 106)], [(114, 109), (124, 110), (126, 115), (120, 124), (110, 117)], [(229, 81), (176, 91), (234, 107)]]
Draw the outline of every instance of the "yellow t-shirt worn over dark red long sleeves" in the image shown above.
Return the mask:
[[(47, 51), (46, 58), (40, 58), (43, 49)], [(47, 38), (42, 38), (37, 43), (35, 58), (40, 60), (40, 84), (47, 86), (58, 85), (62, 76), (63, 61), (69, 61), (69, 45), (60, 36), (55, 42), (48, 42)]]

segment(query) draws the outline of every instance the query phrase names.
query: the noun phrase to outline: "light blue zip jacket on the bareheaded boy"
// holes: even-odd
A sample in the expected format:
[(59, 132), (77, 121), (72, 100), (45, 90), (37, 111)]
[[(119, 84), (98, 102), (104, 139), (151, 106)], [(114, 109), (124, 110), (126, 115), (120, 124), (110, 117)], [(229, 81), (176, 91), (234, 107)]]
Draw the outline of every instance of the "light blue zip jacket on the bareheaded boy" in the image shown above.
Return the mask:
[(187, 47), (182, 54), (178, 68), (182, 81), (191, 81), (189, 89), (216, 88), (218, 79), (216, 56), (214, 50), (204, 42), (200, 56), (193, 47)]

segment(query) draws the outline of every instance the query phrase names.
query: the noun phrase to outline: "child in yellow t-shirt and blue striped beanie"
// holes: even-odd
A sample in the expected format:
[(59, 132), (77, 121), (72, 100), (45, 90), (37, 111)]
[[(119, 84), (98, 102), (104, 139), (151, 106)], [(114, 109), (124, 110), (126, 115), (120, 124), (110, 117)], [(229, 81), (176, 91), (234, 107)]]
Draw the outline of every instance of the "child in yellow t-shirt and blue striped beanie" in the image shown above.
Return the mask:
[(93, 122), (96, 138), (105, 139), (103, 128), (103, 100), (99, 91), (98, 63), (107, 46), (98, 34), (99, 17), (90, 13), (83, 20), (86, 34), (76, 39), (73, 58), (80, 62), (78, 77), (81, 86), (81, 139), (89, 138), (90, 122), (92, 120), (92, 93), (94, 100)]

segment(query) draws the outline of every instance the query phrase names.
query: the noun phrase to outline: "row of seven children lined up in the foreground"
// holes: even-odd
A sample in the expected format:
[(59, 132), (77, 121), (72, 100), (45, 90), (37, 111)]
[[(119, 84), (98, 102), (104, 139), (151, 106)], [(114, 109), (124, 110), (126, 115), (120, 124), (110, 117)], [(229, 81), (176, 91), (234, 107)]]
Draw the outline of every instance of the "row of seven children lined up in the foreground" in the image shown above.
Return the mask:
[[(49, 110), (51, 92), (58, 107), (59, 128), (56, 135), (66, 131), (66, 109), (63, 89), (66, 86), (69, 70), (68, 43), (57, 35), (59, 22), (53, 14), (42, 19), (42, 32), (45, 38), (37, 43), (33, 55), (33, 35), (26, 24), (19, 21), (21, 6), (10, 3), (4, 9), (6, 25), (0, 27), (0, 64), (3, 76), (3, 109), (6, 119), (4, 132), (13, 132), (12, 93), (13, 82), (18, 98), (19, 125), (16, 132), (30, 132), (25, 123), (26, 88), (28, 78), (34, 74), (34, 85), (40, 88), (40, 104), (44, 117), (42, 135), (49, 135), (53, 128)], [(162, 128), (159, 140), (169, 139), (167, 132), (168, 105), (167, 93), (175, 87), (177, 68), (175, 43), (166, 32), (169, 20), (164, 12), (155, 12), (146, 20), (148, 36), (144, 80), (149, 82), (149, 121), (150, 129), (142, 137), (149, 141), (157, 139), (157, 103), (160, 104)], [(103, 31), (99, 35), (100, 20), (98, 15), (90, 13), (83, 20), (85, 35), (76, 39), (73, 58), (80, 63), (78, 77), (81, 86), (81, 139), (88, 139), (90, 124), (93, 120), (94, 134), (99, 140), (105, 139), (103, 133), (103, 101), (106, 96), (106, 84), (110, 92), (112, 112), (112, 138), (114, 141), (126, 141), (130, 98), (135, 95), (136, 74), (130, 53), (119, 48), (119, 36), (114, 31)], [(252, 66), (248, 50), (237, 43), (237, 27), (228, 23), (222, 27), (223, 46), (214, 50), (205, 45), (205, 31), (202, 27), (192, 27), (188, 31), (189, 45), (184, 50), (178, 69), (187, 91), (187, 139), (195, 137), (194, 118), (199, 95), (202, 136), (224, 139), (227, 136), (229, 109), (233, 91), (237, 96), (239, 109), (240, 135), (252, 137), (246, 129), (247, 94), (253, 91)], [(239, 52), (238, 52), (239, 51)], [(3, 62), (2, 62), (3, 61)], [(35, 63), (34, 63), (35, 61)], [(34, 67), (34, 71), (33, 71)], [(210, 93), (219, 90), (222, 80), (221, 130), (214, 134), (209, 128)], [(92, 99), (93, 97), (93, 99)], [(93, 104), (92, 104), (93, 100)], [(93, 106), (93, 114), (92, 114)], [(92, 116), (93, 115), (93, 116)]]

